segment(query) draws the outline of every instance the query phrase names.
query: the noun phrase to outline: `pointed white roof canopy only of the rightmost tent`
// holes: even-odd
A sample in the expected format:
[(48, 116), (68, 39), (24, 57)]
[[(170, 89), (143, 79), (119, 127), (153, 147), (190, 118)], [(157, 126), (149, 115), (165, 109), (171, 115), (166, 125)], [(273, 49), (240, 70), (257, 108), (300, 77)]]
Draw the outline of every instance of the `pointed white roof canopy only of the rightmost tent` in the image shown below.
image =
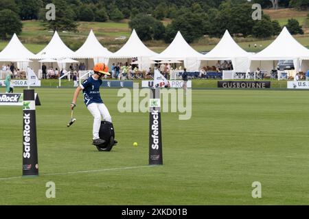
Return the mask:
[(309, 49), (301, 45), (284, 27), (277, 38), (251, 60), (309, 60)]

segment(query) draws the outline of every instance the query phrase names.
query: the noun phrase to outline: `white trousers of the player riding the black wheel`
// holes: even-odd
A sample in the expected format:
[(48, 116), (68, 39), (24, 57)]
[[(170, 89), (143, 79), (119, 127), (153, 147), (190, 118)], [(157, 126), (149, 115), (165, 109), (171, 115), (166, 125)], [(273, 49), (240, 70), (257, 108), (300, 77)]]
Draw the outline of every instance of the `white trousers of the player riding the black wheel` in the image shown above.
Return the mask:
[(93, 116), (93, 140), (100, 138), (99, 131), (101, 127), (101, 119), (112, 123), (111, 115), (109, 114), (104, 103), (91, 103), (87, 109)]

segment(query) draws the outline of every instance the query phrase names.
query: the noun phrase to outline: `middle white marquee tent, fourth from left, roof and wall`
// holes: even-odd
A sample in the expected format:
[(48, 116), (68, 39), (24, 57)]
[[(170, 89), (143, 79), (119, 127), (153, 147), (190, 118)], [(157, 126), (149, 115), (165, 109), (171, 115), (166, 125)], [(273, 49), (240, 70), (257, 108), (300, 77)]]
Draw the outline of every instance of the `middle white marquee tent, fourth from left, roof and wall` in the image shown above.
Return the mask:
[(119, 59), (126, 60), (126, 62), (130, 63), (130, 60), (128, 59), (137, 57), (139, 69), (147, 70), (150, 67), (150, 57), (155, 55), (158, 54), (148, 49), (137, 36), (135, 29), (133, 29), (133, 32), (126, 44), (124, 44), (124, 46), (117, 52), (109, 56), (111, 58), (109, 64), (112, 62), (119, 62)]

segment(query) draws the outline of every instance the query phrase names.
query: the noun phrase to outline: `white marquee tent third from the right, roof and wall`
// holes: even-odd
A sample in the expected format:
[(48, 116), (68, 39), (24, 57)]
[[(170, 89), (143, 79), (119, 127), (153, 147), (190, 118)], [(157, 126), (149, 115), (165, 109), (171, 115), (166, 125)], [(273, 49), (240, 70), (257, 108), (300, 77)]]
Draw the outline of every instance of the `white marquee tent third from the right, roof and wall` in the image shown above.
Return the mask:
[(173, 42), (162, 53), (152, 57), (152, 60), (179, 60), (183, 61), (187, 71), (198, 71), (203, 54), (195, 51), (190, 44), (188, 44), (181, 32), (178, 31)]

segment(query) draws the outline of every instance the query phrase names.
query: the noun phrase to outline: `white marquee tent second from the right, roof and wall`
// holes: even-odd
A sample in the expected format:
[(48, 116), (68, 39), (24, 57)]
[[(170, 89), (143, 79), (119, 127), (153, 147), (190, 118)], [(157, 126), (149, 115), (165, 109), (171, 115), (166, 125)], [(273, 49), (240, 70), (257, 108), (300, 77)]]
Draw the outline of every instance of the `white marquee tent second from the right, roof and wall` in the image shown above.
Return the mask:
[[(229, 34), (229, 31), (226, 30), (216, 47), (204, 55), (201, 60), (231, 60), (233, 70), (247, 72), (249, 68), (249, 55), (250, 53), (240, 48)], [(211, 62), (208, 65), (214, 66), (215, 62)]]

